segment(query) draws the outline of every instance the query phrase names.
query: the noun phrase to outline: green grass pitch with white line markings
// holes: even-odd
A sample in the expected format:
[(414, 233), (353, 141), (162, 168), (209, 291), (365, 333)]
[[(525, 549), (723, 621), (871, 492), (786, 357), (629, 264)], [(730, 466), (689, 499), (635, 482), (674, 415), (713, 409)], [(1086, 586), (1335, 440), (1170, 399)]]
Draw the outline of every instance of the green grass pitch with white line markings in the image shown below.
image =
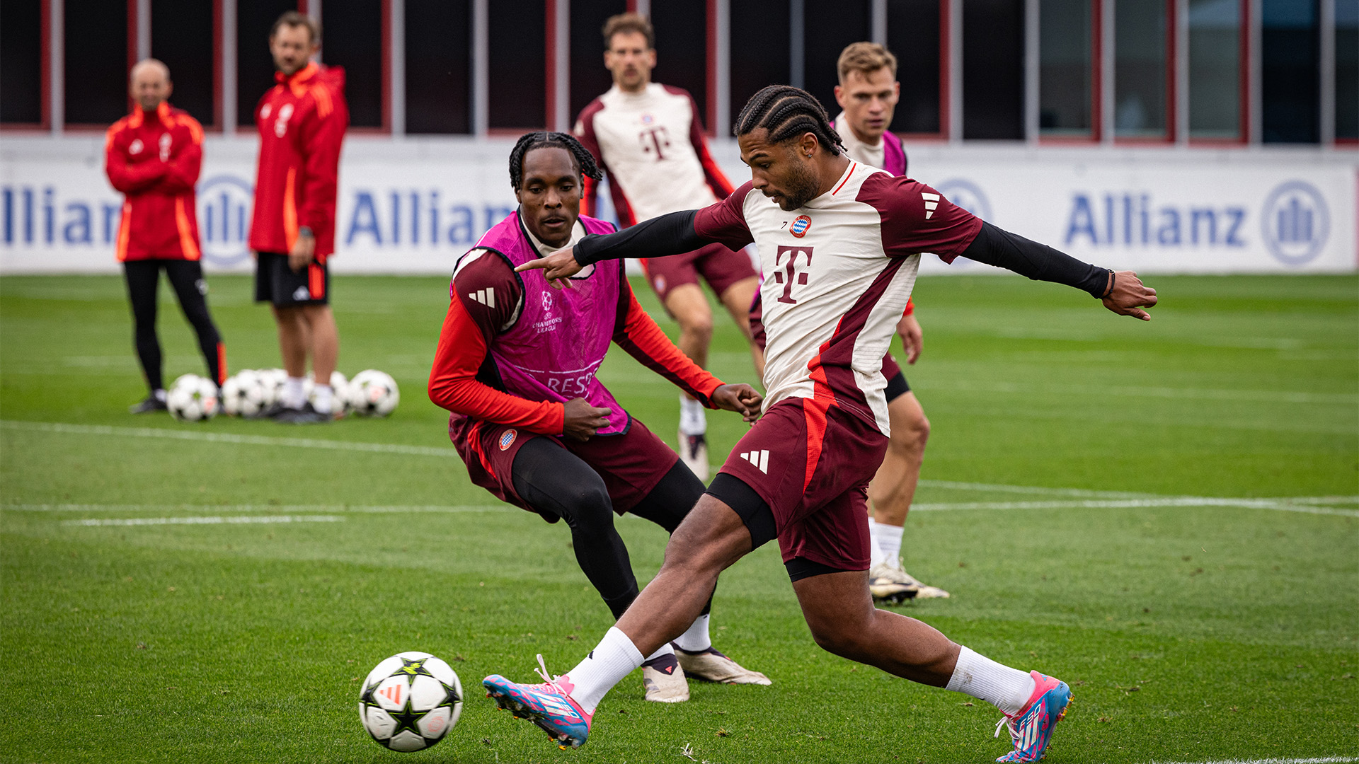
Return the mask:
[[(908, 368), (934, 426), (900, 606), (1071, 682), (1049, 761), (1359, 760), (1359, 279), (1151, 277), (1151, 324), (1063, 287), (921, 279)], [(212, 277), (232, 368), (279, 366), (243, 277)], [(117, 277), (0, 281), (0, 761), (395, 761), (356, 718), (390, 654), (467, 699), (412, 760), (974, 763), (983, 703), (818, 650), (773, 545), (722, 579), (715, 640), (773, 687), (605, 699), (560, 752), (480, 680), (569, 669), (609, 627), (560, 525), (467, 483), (424, 386), (444, 279), (338, 277), (341, 371), (393, 374), (386, 420), (284, 428), (133, 417)], [(639, 294), (673, 332), (650, 291)], [(164, 287), (163, 287), (164, 290)], [(202, 374), (166, 291), (166, 374)], [(712, 368), (752, 377), (718, 321)], [(677, 393), (601, 375), (673, 438)], [(709, 413), (712, 461), (743, 426)], [(132, 518), (281, 523), (82, 525)], [(618, 521), (641, 580), (665, 536)]]

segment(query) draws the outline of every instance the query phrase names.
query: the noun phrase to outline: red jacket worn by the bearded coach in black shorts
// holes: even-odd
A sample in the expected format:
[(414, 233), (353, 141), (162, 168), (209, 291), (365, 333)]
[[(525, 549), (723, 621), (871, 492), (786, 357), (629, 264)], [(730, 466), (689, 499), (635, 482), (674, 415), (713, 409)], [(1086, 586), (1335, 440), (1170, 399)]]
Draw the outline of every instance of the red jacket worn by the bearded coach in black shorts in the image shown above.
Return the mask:
[(336, 250), (336, 186), (340, 145), (349, 126), (344, 69), (307, 64), (255, 107), (260, 171), (255, 178), (250, 249), (287, 253), (307, 226), (317, 237), (317, 262)]

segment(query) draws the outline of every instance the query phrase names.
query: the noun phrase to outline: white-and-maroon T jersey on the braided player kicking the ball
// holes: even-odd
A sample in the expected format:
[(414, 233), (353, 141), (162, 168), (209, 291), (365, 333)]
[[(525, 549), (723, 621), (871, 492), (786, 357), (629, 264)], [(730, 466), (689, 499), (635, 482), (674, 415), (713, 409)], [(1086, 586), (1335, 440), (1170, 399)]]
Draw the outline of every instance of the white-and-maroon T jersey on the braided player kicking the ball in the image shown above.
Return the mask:
[(750, 184), (700, 209), (694, 231), (754, 242), (764, 281), (765, 411), (787, 397), (840, 406), (889, 434), (882, 358), (920, 253), (953, 262), (981, 219), (909, 178), (849, 162), (832, 190), (784, 212)]

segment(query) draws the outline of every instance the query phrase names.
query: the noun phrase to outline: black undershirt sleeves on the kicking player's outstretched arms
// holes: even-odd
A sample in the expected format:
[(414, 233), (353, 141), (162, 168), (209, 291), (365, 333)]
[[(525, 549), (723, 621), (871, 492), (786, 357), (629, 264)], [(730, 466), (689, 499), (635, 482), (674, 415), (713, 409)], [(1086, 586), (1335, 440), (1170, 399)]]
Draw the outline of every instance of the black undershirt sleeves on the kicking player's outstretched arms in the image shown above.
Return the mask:
[[(666, 257), (693, 251), (711, 243), (694, 230), (696, 216), (696, 209), (671, 212), (617, 234), (586, 237), (576, 243), (576, 262), (590, 265), (601, 260)], [(1014, 271), (1036, 281), (1075, 287), (1095, 298), (1102, 296), (1109, 287), (1109, 271), (987, 222), (981, 223), (981, 230), (961, 257)]]

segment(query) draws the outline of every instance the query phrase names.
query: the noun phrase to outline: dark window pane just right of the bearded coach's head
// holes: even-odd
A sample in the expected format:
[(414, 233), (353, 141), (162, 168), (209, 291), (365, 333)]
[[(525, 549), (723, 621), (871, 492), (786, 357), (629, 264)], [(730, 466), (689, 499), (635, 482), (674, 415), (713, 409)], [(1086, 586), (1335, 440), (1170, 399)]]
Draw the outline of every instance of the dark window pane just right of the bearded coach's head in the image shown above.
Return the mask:
[(355, 128), (387, 125), (383, 118), (387, 1), (325, 0), (321, 4), (321, 60), (332, 67), (344, 67), (344, 95), (349, 105), (349, 125)]

